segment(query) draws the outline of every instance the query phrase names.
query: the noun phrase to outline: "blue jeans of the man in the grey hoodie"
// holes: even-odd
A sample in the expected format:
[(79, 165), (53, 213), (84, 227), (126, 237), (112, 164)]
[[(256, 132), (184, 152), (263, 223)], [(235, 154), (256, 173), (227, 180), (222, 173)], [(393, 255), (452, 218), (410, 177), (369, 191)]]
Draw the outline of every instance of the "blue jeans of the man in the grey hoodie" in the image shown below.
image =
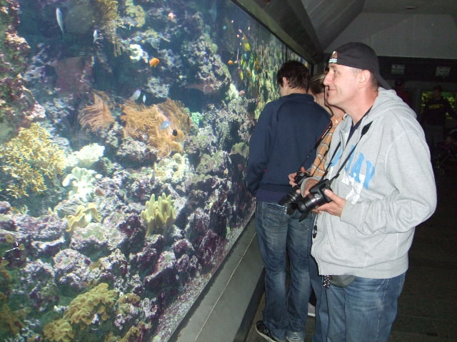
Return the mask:
[(391, 279), (356, 276), (346, 286), (327, 290), (328, 342), (386, 342), (397, 314), (405, 274)]

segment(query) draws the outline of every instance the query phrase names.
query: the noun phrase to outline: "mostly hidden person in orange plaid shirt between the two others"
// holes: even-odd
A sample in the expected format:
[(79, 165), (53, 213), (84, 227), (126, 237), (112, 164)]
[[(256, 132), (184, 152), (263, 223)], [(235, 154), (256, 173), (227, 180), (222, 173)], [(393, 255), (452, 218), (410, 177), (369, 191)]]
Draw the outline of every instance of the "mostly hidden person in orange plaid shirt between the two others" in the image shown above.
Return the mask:
[[(343, 118), (344, 112), (338, 107), (329, 106), (326, 103), (326, 92), (325, 87), (323, 86), (323, 78), (326, 77), (326, 73), (321, 73), (311, 77), (309, 81), (309, 88), (308, 94), (313, 95), (314, 100), (316, 103), (321, 105), (324, 109), (327, 110), (329, 115), (331, 115), (331, 122), (332, 127), (328, 130), (328, 133), (323, 137), (320, 144), (317, 147), (316, 152), (316, 159), (311, 165), (311, 169), (309, 170), (309, 174), (312, 176), (319, 176), (323, 175), (323, 166), (325, 165), (326, 156), (328, 147), (331, 142), (331, 136), (333, 135), (336, 126), (341, 123)], [(306, 172), (304, 167), (302, 167), (301, 172)], [(292, 173), (288, 176), (289, 184), (293, 187), (296, 186), (294, 182), (296, 177), (296, 172)], [(327, 307), (327, 296), (325, 289), (322, 286), (322, 276), (319, 275), (318, 266), (316, 260), (311, 256), (311, 244), (312, 244), (312, 226), (314, 224), (314, 219), (316, 218), (316, 214), (312, 212), (309, 214), (311, 217), (308, 222), (311, 226), (308, 229), (308, 262), (309, 262), (309, 275), (311, 280), (311, 289), (314, 292), (314, 297), (316, 299), (314, 304), (310, 304), (315, 306), (314, 314), (315, 314), (315, 326), (314, 326), (314, 333), (313, 333), (313, 342), (326, 342), (327, 341), (327, 331), (328, 331), (328, 307)], [(311, 300), (310, 300), (311, 303)], [(311, 309), (311, 308), (310, 308)], [(308, 310), (309, 313), (309, 310)]]

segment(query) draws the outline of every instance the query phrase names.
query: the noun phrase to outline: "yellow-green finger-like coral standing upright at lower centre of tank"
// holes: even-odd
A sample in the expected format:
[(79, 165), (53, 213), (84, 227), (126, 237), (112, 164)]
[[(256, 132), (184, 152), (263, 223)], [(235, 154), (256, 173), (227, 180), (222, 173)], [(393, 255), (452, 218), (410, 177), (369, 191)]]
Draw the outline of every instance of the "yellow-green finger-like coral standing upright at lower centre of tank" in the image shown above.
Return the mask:
[(171, 195), (162, 193), (156, 201), (156, 195), (146, 202), (146, 209), (141, 212), (141, 219), (146, 222), (146, 235), (166, 234), (170, 232), (176, 218), (176, 209)]

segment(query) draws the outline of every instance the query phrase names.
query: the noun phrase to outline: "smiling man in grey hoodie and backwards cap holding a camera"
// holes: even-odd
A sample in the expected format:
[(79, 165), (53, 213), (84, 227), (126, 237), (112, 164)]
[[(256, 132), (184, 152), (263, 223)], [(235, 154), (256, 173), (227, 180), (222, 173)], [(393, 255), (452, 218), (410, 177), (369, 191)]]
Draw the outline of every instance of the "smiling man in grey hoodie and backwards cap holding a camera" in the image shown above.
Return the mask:
[(414, 229), (436, 207), (430, 153), (372, 48), (346, 43), (328, 66), (328, 104), (346, 115), (327, 155), (329, 187), (309, 178), (301, 189), (320, 205), (311, 254), (329, 286), (328, 341), (387, 341)]

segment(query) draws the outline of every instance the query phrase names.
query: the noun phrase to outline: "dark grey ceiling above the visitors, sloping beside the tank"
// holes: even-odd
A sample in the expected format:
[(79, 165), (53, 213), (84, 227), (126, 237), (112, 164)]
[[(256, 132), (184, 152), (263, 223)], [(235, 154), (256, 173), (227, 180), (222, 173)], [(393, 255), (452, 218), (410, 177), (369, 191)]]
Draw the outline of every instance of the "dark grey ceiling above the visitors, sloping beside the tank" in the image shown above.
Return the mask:
[(338, 39), (366, 42), (381, 56), (457, 60), (457, 0), (233, 1), (312, 63)]

